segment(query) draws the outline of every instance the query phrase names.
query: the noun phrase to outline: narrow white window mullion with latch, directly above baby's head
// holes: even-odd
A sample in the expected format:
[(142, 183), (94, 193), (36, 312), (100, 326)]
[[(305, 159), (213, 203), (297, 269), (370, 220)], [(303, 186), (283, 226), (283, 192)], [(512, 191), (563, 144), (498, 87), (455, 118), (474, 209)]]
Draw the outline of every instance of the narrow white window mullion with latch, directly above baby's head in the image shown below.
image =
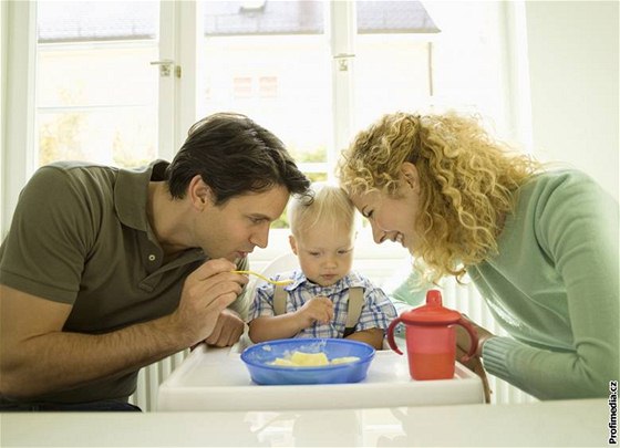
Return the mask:
[(347, 147), (352, 136), (353, 123), (353, 65), (356, 33), (355, 2), (331, 1), (328, 14), (330, 22), (333, 140), (328, 152), (328, 179), (332, 179), (333, 167), (340, 150)]

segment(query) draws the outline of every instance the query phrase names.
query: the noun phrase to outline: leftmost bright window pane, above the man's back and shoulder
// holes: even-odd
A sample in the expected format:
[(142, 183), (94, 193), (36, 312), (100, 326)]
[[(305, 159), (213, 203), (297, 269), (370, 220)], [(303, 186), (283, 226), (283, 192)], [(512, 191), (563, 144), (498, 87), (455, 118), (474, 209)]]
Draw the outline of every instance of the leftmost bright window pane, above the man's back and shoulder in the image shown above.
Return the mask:
[(158, 3), (41, 2), (39, 165), (156, 157)]

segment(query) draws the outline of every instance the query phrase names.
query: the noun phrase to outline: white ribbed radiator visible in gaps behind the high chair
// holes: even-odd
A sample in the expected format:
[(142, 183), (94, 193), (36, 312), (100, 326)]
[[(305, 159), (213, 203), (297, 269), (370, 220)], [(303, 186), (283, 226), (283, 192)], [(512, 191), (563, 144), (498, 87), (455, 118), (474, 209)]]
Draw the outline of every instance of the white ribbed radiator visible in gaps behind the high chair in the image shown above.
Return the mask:
[[(506, 332), (495, 322), (487, 309), (486, 303), (479, 296), (473, 284), (459, 285), (453, 280), (442, 283), (443, 303), (446, 308), (458, 310), (467, 314), (474, 322), (497, 335), (506, 335)], [(159, 384), (185, 360), (189, 351), (177, 353), (159, 361), (148, 367), (144, 367), (138, 375), (137, 388), (130, 402), (140, 406), (143, 410), (157, 409), (157, 389)], [(536, 402), (536, 398), (509, 385), (508, 383), (488, 376), (492, 404), (518, 404)]]

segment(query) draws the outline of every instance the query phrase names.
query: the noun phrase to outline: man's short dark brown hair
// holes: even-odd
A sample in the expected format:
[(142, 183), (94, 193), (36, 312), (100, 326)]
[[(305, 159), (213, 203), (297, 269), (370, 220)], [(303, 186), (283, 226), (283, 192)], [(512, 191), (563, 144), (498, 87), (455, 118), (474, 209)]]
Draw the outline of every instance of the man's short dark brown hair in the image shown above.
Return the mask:
[(215, 204), (247, 192), (285, 186), (307, 195), (310, 180), (299, 170), (283, 143), (241, 114), (218, 113), (194, 124), (166, 169), (173, 198), (185, 197), (192, 178), (200, 175)]

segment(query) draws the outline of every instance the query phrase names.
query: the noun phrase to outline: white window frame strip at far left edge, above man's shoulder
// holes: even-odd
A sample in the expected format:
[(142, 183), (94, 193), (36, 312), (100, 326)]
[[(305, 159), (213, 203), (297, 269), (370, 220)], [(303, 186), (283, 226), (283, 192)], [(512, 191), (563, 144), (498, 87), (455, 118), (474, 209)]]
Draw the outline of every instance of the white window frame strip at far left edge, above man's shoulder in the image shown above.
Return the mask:
[[(34, 81), (37, 65), (37, 3), (8, 2), (4, 145), (2, 148), (2, 210), (0, 236), (9, 230), (19, 192), (34, 170)], [(3, 42), (4, 45), (4, 42)], [(9, 113), (10, 112), (10, 113)]]

